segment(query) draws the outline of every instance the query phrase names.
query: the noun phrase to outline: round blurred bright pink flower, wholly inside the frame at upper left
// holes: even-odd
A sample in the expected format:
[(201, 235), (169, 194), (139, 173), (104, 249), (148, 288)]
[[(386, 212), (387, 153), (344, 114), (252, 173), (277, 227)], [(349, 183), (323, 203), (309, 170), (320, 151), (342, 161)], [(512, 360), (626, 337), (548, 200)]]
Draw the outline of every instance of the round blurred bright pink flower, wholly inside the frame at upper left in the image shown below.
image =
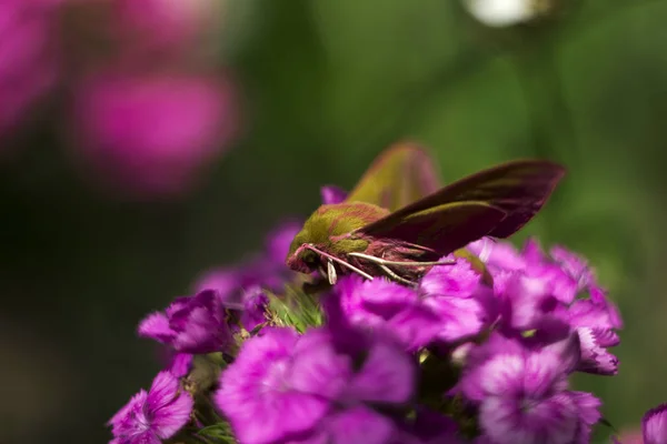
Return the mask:
[(229, 81), (102, 73), (78, 88), (78, 153), (89, 172), (122, 191), (150, 196), (187, 191), (235, 133)]

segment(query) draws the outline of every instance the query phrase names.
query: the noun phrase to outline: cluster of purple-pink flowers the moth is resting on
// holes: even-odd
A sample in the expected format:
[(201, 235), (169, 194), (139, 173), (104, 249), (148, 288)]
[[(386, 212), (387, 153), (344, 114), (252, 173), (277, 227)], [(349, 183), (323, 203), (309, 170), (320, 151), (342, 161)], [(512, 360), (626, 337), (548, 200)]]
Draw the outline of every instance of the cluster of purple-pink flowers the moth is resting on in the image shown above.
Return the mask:
[[(115, 443), (590, 442), (601, 402), (569, 379), (615, 375), (623, 325), (584, 259), (482, 239), (412, 286), (349, 274), (313, 295), (282, 266), (296, 230), (141, 322), (176, 357), (113, 416)], [(195, 387), (205, 367), (213, 382)], [(667, 442), (665, 411), (645, 443)]]

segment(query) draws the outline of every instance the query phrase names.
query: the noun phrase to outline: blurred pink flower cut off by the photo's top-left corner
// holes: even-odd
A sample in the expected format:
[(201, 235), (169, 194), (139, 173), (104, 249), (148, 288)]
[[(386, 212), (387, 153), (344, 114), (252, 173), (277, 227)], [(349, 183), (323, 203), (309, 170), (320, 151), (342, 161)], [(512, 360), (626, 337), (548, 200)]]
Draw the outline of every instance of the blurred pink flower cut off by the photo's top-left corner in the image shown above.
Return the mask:
[(0, 135), (54, 83), (57, 0), (0, 1)]

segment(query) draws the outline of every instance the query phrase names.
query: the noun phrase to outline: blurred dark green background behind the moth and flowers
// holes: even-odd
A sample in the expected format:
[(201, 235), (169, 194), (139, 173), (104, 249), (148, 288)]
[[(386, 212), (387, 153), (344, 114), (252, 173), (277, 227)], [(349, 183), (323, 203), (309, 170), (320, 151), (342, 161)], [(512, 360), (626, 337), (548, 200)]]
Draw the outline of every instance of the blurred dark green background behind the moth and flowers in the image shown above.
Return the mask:
[(139, 320), (401, 139), (430, 148), (446, 181), (521, 157), (568, 167), (516, 240), (596, 265), (625, 319), (620, 374), (575, 384), (616, 427), (638, 424), (667, 401), (667, 1), (569, 3), (494, 30), (454, 0), (230, 0), (210, 57), (239, 84), (242, 133), (178, 200), (88, 186), (49, 108), (0, 167), (0, 442), (107, 442), (160, 369)]

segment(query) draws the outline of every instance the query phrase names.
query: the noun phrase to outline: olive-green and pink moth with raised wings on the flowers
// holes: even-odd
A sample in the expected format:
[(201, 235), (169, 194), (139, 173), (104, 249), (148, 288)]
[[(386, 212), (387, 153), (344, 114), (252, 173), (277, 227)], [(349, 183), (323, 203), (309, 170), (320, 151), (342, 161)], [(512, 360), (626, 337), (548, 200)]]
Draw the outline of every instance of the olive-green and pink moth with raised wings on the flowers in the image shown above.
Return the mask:
[(329, 284), (357, 273), (412, 285), (432, 266), (452, 264), (440, 259), (468, 243), (512, 235), (540, 211), (565, 172), (555, 162), (517, 160), (438, 189), (428, 153), (398, 144), (345, 201), (322, 204), (306, 220), (286, 262), (298, 272), (319, 271)]

